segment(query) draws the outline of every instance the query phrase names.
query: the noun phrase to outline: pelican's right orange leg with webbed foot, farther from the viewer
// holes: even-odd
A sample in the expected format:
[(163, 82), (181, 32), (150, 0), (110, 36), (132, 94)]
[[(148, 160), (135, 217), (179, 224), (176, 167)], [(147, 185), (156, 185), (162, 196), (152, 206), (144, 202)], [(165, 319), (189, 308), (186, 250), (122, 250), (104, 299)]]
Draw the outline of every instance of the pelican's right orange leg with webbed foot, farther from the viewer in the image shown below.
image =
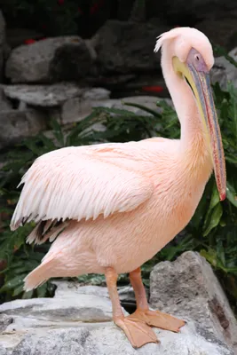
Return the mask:
[(186, 324), (184, 320), (172, 317), (170, 314), (149, 310), (140, 268), (130, 272), (130, 283), (137, 302), (137, 310), (130, 314), (131, 319), (140, 319), (145, 321), (148, 326), (160, 327), (173, 332), (178, 332), (179, 328)]

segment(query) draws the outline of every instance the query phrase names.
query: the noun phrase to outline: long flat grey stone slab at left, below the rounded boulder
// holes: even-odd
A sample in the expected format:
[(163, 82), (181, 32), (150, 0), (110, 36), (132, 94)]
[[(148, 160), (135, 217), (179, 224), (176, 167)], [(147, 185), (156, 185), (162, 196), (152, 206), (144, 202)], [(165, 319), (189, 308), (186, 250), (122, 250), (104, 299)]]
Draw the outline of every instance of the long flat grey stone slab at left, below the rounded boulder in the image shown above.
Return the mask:
[(52, 85), (4, 85), (4, 94), (10, 99), (23, 101), (30, 106), (51, 107), (83, 94), (84, 89), (74, 83)]

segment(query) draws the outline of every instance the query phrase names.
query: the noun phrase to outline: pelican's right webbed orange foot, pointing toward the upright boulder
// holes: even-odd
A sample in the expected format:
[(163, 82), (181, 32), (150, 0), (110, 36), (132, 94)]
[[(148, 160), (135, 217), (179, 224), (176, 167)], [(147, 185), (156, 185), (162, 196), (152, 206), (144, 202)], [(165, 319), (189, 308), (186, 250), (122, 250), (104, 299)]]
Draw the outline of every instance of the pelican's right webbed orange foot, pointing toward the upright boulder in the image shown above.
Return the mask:
[(170, 316), (170, 314), (162, 313), (159, 311), (140, 310), (137, 309), (128, 317), (130, 319), (139, 319), (144, 321), (148, 326), (160, 327), (165, 330), (178, 333), (180, 327), (183, 327), (185, 320)]

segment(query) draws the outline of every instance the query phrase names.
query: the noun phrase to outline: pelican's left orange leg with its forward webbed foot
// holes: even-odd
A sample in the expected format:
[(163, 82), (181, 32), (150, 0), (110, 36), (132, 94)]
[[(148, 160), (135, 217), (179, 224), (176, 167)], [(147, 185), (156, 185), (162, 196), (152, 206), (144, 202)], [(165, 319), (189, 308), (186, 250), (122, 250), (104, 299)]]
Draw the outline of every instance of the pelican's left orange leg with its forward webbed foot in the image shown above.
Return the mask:
[(124, 317), (117, 292), (117, 273), (112, 267), (106, 269), (107, 289), (112, 302), (113, 320), (127, 335), (131, 345), (139, 348), (146, 343), (158, 343), (156, 335), (151, 327), (141, 319)]

